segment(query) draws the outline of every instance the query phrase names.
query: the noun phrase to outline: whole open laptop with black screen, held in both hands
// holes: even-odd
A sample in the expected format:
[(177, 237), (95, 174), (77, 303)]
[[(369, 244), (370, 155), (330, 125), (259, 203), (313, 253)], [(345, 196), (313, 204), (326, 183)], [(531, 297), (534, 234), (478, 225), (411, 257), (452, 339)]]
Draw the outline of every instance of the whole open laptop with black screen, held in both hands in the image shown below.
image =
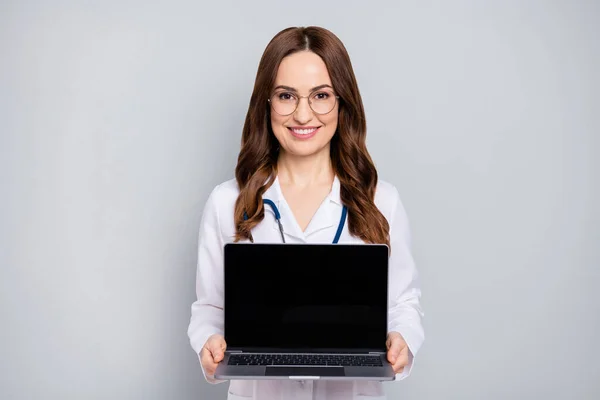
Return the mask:
[(215, 378), (394, 380), (388, 247), (225, 245), (225, 357)]

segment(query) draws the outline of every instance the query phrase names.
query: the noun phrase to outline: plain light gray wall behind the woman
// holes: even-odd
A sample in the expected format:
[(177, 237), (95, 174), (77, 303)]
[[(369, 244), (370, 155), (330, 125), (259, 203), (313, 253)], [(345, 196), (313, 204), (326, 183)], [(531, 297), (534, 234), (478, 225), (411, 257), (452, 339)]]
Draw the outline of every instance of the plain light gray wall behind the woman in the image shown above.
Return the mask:
[(204, 201), (290, 25), (352, 57), (411, 219), (398, 399), (592, 399), (597, 1), (0, 3), (0, 398), (217, 399), (186, 335)]

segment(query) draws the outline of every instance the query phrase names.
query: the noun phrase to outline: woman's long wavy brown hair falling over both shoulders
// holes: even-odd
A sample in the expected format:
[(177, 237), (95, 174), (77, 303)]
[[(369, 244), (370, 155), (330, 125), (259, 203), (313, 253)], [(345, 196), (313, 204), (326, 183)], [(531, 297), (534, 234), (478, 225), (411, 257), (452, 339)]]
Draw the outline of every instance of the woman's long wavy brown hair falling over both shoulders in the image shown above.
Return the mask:
[(253, 241), (251, 230), (264, 218), (262, 195), (277, 176), (279, 148), (267, 100), (281, 60), (299, 51), (312, 51), (323, 59), (339, 95), (338, 127), (331, 139), (330, 154), (333, 171), (340, 180), (341, 201), (348, 208), (348, 229), (367, 243), (390, 246), (388, 221), (374, 202), (377, 170), (365, 144), (365, 112), (350, 57), (337, 36), (314, 26), (279, 32), (260, 60), (235, 169), (240, 188), (235, 203), (235, 241)]

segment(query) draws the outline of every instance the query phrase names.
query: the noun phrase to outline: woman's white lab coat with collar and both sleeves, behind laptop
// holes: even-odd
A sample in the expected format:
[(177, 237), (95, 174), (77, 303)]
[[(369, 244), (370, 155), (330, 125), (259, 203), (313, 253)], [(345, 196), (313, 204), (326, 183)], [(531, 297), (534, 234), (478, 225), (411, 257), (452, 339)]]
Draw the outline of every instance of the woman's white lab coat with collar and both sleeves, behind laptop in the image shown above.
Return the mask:
[[(188, 329), (190, 343), (199, 354), (206, 340), (214, 333), (223, 334), (223, 246), (233, 242), (235, 235), (234, 205), (238, 196), (234, 179), (218, 185), (211, 192), (202, 216), (198, 244), (196, 279), (197, 300), (191, 307)], [(331, 243), (340, 220), (340, 182), (334, 179), (329, 196), (321, 204), (304, 232), (296, 222), (276, 179), (263, 195), (280, 210), (287, 243)], [(406, 378), (413, 367), (414, 357), (424, 341), (419, 299), (417, 270), (410, 253), (410, 232), (407, 216), (398, 191), (391, 184), (379, 180), (375, 204), (390, 224), (391, 256), (389, 271), (388, 331), (397, 331), (404, 337), (410, 354), (409, 365), (396, 380)], [(255, 243), (281, 243), (279, 227), (270, 207), (265, 207), (265, 218), (253, 230)], [(348, 232), (348, 223), (339, 243), (363, 243)], [(203, 370), (204, 373), (204, 370)], [(209, 383), (223, 381), (206, 376)], [(391, 383), (393, 384), (393, 383)], [(288, 400), (288, 399), (386, 399), (383, 384), (371, 381), (285, 381), (285, 380), (232, 380), (228, 400)]]

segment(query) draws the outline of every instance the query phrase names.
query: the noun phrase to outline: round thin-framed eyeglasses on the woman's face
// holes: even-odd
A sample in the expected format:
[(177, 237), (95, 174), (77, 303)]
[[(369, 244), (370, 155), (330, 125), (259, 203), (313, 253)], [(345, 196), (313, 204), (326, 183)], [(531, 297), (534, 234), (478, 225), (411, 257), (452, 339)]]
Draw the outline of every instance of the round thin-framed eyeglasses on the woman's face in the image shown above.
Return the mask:
[(333, 90), (320, 89), (308, 96), (298, 96), (297, 93), (290, 91), (278, 91), (268, 100), (275, 111), (279, 115), (287, 116), (296, 112), (300, 99), (306, 98), (308, 106), (316, 114), (329, 114), (333, 111), (335, 104), (340, 96), (336, 96)]

